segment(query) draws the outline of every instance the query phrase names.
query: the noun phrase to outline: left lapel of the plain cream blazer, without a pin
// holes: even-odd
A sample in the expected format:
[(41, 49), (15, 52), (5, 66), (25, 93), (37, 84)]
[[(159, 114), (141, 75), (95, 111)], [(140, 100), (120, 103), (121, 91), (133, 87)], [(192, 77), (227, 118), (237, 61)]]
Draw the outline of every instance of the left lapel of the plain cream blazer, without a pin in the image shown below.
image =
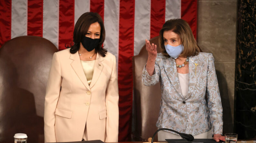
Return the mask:
[(84, 74), (84, 71), (83, 71), (83, 68), (81, 65), (81, 61), (80, 61), (78, 52), (76, 52), (74, 54), (70, 54), (70, 59), (73, 60), (73, 62), (71, 62), (71, 67), (74, 69), (75, 73), (77, 74), (77, 76), (79, 77), (81, 82), (84, 84), (84, 86), (88, 90), (90, 90), (90, 87), (88, 85), (86, 76)]

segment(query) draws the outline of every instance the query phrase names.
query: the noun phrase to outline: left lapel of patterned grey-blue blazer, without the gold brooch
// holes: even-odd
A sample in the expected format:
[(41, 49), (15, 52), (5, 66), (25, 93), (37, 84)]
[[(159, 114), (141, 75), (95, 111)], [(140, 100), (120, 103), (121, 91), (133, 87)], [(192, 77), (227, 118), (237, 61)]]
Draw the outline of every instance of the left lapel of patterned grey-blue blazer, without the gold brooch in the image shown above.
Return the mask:
[(165, 60), (164, 67), (165, 67), (165, 72), (169, 78), (170, 83), (173, 84), (175, 90), (183, 98), (181, 88), (179, 85), (179, 78), (178, 78), (178, 72), (177, 72), (175, 60), (173, 58), (167, 58)]

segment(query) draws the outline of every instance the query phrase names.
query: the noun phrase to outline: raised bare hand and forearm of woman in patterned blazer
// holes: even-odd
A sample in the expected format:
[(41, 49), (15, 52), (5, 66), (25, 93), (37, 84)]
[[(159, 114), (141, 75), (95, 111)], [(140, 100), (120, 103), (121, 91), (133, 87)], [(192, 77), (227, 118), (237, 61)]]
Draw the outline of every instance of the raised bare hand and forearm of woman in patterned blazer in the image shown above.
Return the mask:
[(155, 44), (150, 45), (150, 42), (147, 39), (145, 40), (145, 42), (146, 42), (146, 49), (148, 53), (146, 70), (148, 74), (151, 76), (154, 74), (154, 69), (155, 69), (155, 61), (157, 56), (156, 45)]

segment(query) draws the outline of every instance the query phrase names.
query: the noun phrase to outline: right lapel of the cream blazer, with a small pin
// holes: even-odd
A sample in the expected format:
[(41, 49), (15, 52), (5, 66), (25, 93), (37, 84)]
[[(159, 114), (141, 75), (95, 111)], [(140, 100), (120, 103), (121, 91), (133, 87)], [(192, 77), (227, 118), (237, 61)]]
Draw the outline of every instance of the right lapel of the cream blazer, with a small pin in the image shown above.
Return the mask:
[(90, 83), (90, 88), (93, 87), (93, 85), (97, 82), (98, 78), (100, 77), (100, 73), (103, 69), (103, 64), (101, 63), (103, 61), (103, 58), (97, 53), (96, 60), (94, 63), (94, 68), (93, 68), (93, 75)]

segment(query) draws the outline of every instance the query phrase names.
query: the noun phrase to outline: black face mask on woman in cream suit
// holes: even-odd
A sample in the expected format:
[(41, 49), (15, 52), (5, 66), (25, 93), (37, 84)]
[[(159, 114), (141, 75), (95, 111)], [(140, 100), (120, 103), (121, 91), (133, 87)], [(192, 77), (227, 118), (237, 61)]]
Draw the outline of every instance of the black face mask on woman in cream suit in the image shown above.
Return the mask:
[(99, 44), (100, 39), (92, 39), (86, 36), (82, 37), (81, 43), (83, 47), (88, 51), (92, 51), (93, 49), (96, 48), (96, 46)]

